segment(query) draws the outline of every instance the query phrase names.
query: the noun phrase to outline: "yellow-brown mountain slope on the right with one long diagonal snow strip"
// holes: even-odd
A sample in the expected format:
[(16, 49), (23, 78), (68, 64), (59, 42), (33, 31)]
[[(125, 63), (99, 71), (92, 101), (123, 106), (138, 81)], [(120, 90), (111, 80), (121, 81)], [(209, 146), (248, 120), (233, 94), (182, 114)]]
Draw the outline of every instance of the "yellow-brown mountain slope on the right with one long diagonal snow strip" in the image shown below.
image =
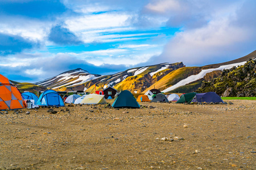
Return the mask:
[(158, 88), (162, 92), (168, 93), (186, 93), (196, 91), (197, 88), (201, 86), (203, 81), (210, 81), (213, 78), (217, 78), (221, 75), (222, 70), (231, 69), (233, 66), (243, 65), (250, 58), (256, 58), (256, 50), (244, 57), (234, 59), (229, 62), (217, 63), (202, 67), (183, 67), (167, 74), (142, 93), (154, 87)]

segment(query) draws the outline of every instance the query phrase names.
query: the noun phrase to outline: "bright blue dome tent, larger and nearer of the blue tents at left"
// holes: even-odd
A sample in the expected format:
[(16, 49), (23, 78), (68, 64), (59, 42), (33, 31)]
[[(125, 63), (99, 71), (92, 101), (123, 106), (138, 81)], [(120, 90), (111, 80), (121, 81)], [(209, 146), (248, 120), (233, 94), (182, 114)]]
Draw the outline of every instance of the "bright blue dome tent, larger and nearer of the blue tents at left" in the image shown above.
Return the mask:
[(36, 105), (56, 105), (57, 107), (63, 107), (64, 103), (61, 96), (54, 90), (44, 91), (36, 102)]

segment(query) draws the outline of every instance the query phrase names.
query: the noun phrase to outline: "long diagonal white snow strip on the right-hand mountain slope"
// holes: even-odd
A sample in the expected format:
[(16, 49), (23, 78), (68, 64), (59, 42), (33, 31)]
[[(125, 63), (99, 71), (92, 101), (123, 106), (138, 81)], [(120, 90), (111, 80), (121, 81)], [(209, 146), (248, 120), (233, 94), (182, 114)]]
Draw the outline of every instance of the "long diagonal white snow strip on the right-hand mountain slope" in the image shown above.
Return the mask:
[(245, 62), (240, 62), (240, 63), (233, 63), (233, 64), (230, 64), (230, 65), (223, 65), (223, 66), (220, 66), (220, 67), (218, 67), (216, 69), (202, 70), (199, 74), (188, 76), (187, 78), (185, 78), (183, 80), (180, 80), (180, 82), (174, 84), (174, 86), (166, 88), (166, 90), (163, 90), (162, 92), (165, 93), (165, 92), (174, 90), (177, 87), (184, 86), (185, 84), (188, 84), (188, 83), (191, 83), (191, 82), (195, 82), (196, 80), (199, 80), (199, 79), (203, 78), (207, 73), (210, 73), (212, 71), (217, 71), (217, 70), (221, 70), (222, 71), (224, 69), (231, 69), (234, 66), (241, 66), (241, 65), (244, 65), (245, 63), (246, 63), (246, 61)]

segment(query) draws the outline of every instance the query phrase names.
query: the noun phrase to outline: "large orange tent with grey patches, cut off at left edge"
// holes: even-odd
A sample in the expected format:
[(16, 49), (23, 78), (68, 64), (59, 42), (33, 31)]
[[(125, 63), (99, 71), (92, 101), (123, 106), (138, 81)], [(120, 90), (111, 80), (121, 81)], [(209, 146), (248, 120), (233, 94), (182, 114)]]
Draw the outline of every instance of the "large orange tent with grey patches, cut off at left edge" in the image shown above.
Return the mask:
[(0, 74), (0, 110), (24, 108), (22, 95), (5, 76)]

